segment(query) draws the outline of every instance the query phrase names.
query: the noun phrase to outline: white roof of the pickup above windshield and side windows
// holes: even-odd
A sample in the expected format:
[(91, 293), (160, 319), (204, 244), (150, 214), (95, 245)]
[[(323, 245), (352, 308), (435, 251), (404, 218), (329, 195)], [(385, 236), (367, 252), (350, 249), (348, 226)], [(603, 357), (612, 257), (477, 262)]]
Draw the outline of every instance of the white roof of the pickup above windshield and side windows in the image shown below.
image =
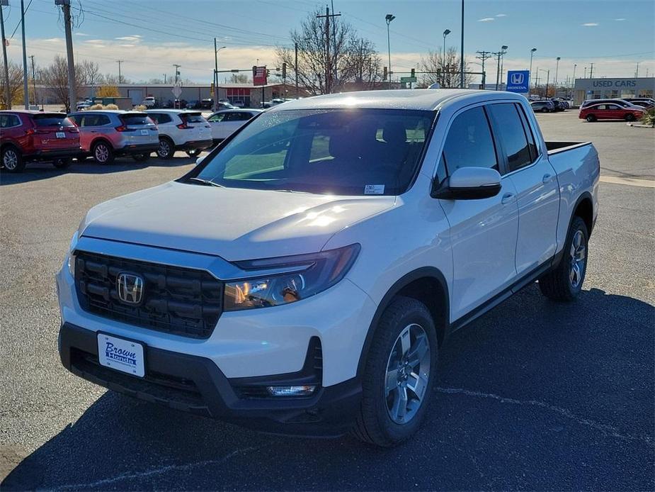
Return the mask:
[(375, 108), (410, 109), (433, 111), (440, 104), (451, 99), (466, 98), (469, 102), (489, 99), (525, 99), (523, 96), (505, 91), (482, 91), (472, 89), (396, 89), (383, 91), (343, 92), (287, 101), (273, 106), (268, 111), (289, 109), (328, 108)]

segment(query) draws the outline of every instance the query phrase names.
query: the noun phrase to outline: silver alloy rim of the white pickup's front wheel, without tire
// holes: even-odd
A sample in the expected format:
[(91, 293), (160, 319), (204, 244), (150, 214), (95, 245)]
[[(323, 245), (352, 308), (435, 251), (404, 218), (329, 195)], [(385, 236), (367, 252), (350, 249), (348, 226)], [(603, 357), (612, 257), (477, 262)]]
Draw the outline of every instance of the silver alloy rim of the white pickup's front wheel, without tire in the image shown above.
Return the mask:
[(430, 344), (426, 330), (412, 323), (401, 331), (389, 354), (385, 396), (394, 423), (408, 423), (421, 408), (430, 377)]

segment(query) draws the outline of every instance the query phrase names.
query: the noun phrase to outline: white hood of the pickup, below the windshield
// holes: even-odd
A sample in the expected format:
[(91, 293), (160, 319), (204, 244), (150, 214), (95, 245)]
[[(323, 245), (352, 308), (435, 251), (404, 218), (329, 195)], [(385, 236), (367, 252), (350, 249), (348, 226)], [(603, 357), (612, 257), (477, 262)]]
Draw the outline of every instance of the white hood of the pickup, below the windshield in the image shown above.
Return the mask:
[(91, 208), (79, 234), (220, 256), (317, 252), (339, 230), (394, 206), (393, 196), (328, 196), (170, 182)]

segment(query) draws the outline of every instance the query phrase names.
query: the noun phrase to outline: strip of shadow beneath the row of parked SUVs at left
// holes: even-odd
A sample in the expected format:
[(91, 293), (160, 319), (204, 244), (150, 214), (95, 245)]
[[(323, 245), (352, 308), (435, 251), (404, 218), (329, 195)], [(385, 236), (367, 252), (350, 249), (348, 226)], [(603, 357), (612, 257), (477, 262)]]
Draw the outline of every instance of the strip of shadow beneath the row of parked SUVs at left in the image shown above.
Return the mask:
[[(146, 162), (137, 162), (132, 159), (117, 159), (113, 164), (96, 164), (92, 160), (73, 162), (67, 169), (57, 169), (50, 162), (28, 164), (21, 173), (10, 173), (0, 169), (0, 186), (10, 184), (28, 183), (63, 176), (65, 174), (113, 174), (116, 172), (135, 171), (148, 167), (182, 167), (195, 164), (192, 157), (173, 157), (169, 160), (149, 159)], [(180, 172), (182, 175), (183, 172)]]

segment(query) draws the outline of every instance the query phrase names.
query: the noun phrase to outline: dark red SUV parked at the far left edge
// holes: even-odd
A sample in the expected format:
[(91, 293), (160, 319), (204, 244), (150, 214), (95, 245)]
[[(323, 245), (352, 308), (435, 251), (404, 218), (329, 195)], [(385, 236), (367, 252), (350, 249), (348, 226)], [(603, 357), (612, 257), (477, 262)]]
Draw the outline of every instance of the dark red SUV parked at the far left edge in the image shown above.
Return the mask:
[(0, 111), (0, 164), (8, 172), (21, 172), (30, 161), (63, 169), (79, 152), (79, 129), (64, 113)]

